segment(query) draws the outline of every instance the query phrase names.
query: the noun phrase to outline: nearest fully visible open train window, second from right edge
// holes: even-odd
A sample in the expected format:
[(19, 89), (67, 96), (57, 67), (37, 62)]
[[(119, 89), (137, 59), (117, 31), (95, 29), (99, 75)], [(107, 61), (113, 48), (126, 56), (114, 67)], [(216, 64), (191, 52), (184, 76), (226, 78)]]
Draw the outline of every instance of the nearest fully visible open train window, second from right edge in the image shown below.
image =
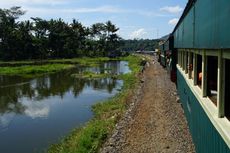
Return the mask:
[(217, 105), (217, 67), (218, 57), (207, 57), (207, 96)]

